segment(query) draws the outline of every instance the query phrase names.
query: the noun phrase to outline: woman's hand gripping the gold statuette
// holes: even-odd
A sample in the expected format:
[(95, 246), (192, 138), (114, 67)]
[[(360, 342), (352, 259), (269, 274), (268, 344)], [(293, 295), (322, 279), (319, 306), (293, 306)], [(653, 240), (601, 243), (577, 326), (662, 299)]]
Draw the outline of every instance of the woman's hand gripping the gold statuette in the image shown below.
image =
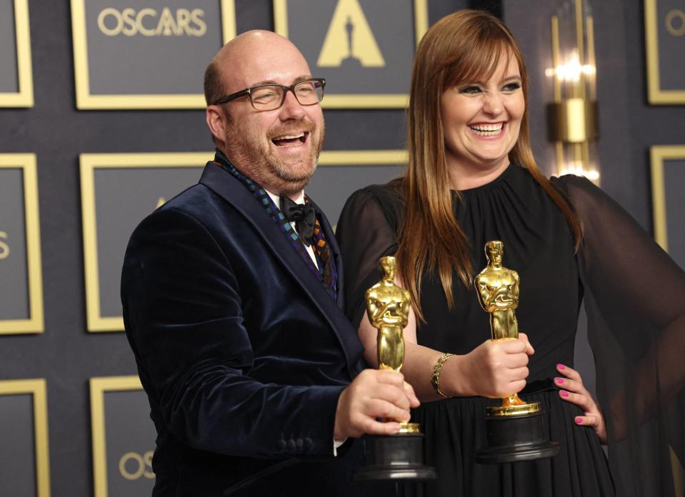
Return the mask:
[[(516, 340), (488, 340), (459, 361), (451, 379), (459, 388), (446, 385), (448, 395), (501, 398), (517, 393), (526, 386), (528, 356), (534, 352), (525, 333)], [(447, 367), (450, 361), (445, 363)], [(441, 383), (442, 384), (442, 383)]]

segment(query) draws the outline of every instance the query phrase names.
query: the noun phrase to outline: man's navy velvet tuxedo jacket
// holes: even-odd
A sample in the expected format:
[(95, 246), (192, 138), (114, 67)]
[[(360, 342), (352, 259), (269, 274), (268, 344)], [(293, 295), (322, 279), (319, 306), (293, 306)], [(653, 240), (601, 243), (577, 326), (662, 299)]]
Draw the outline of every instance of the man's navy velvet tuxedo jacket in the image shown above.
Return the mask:
[(360, 495), (347, 483), (359, 442), (332, 455), (339, 394), (362, 367), (338, 285), (335, 302), (259, 201), (211, 162), (141, 222), (121, 299), (158, 433), (154, 496)]

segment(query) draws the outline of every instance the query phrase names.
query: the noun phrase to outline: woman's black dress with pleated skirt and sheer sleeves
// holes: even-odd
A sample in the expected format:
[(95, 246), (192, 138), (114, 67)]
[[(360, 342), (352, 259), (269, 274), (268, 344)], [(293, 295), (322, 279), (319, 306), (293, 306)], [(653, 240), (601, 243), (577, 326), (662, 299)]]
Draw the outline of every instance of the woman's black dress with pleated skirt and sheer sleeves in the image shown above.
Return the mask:
[[(501, 240), (504, 266), (519, 273), (516, 316), (519, 330), (528, 334), (535, 348), (521, 398), (541, 403), (549, 415), (550, 438), (560, 443), (561, 452), (539, 461), (478, 464), (476, 450), (485, 446), (485, 408), (501, 401), (458, 397), (424, 402), (412, 413), (412, 421), (421, 423), (426, 435), (426, 463), (439, 473), (439, 479), (429, 483), (429, 496), (673, 495), (667, 464), (669, 445), (682, 454), (685, 440), (681, 431), (666, 433), (666, 438), (664, 431), (678, 430), (682, 423), (664, 423), (664, 416), (654, 414), (668, 406), (673, 416), (685, 421), (685, 371), (675, 364), (661, 369), (657, 366), (667, 358), (658, 343), (666, 339), (659, 337), (669, 323), (680, 320), (671, 329), (668, 343), (681, 352), (685, 348), (685, 275), (589, 181), (564, 176), (554, 179), (554, 184), (568, 196), (584, 226), (584, 242), (577, 254), (564, 215), (519, 166), (509, 166), (491, 183), (461, 191), (461, 196), (454, 193), (454, 211), (471, 243), (474, 272), (486, 265), (484, 244)], [(344, 259), (346, 312), (355, 326), (364, 314), (366, 288), (379, 281), (379, 257), (396, 252), (404, 209), (401, 189), (401, 180), (396, 180), (359, 190), (341, 214), (336, 236)], [(634, 251), (641, 254), (639, 261), (644, 266), (636, 267), (638, 261), (631, 255)], [(465, 354), (489, 338), (489, 316), (481, 309), (473, 287), (459, 283), (456, 273), (453, 281), (455, 304), (449, 309), (439, 278), (435, 273), (424, 274), (421, 308), (426, 323), (417, 323), (416, 336), (420, 345)], [(660, 294), (666, 291), (664, 285), (668, 287), (666, 298)], [(629, 471), (639, 472), (636, 481), (630, 473), (612, 478), (594, 431), (574, 424), (574, 417), (582, 415), (581, 409), (562, 401), (551, 383), (551, 378), (559, 376), (557, 363), (573, 367), (576, 326), (584, 297), (589, 338), (597, 359), (599, 402), (604, 406), (609, 436), (617, 442), (610, 445), (609, 453), (611, 456), (614, 451), (617, 461), (628, 460)], [(626, 309), (634, 316), (623, 316)], [(642, 378), (639, 386), (636, 376)], [(667, 393), (659, 392), (657, 401), (654, 385), (660, 376), (669, 378), (671, 388)], [(660, 387), (663, 390), (663, 382)], [(632, 396), (634, 392), (636, 396)], [(644, 401), (636, 401), (650, 393), (651, 408), (645, 408)], [(629, 435), (636, 437), (633, 441), (654, 438), (654, 452), (648, 451), (651, 455), (647, 457), (639, 447), (636, 455), (635, 451), (631, 456), (616, 452), (631, 446), (626, 443)], [(656, 466), (654, 456), (657, 461), (661, 458)], [(621, 469), (616, 466), (613, 471)], [(649, 474), (641, 474), (643, 471)], [(411, 493), (409, 488), (406, 492)]]

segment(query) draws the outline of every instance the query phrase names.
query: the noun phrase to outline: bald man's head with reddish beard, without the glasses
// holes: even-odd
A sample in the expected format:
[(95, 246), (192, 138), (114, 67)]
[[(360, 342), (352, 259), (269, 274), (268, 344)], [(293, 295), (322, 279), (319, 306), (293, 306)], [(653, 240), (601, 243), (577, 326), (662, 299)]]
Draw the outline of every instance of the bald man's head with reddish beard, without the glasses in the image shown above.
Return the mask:
[[(273, 194), (297, 198), (316, 169), (324, 141), (324, 114), (319, 101), (301, 104), (294, 84), (311, 84), (309, 65), (289, 40), (271, 31), (248, 31), (226, 44), (205, 75), (206, 121), (216, 148), (242, 174)], [(256, 109), (251, 95), (239, 94), (254, 86), (282, 88), (280, 106)], [(321, 84), (323, 91), (323, 84)], [(274, 93), (275, 94), (275, 93)], [(305, 91), (306, 94), (306, 91)], [(317, 93), (322, 96), (322, 93)]]

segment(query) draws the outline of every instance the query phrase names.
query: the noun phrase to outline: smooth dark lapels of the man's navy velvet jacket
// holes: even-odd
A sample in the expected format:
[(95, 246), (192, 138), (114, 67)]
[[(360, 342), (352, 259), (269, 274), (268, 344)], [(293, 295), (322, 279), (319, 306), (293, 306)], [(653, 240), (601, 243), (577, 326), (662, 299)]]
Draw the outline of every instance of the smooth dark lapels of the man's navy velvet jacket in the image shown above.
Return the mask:
[[(342, 258), (335, 241), (335, 236), (325, 216), (320, 216), (321, 229), (324, 230), (326, 243), (331, 244), (334, 253), (334, 261), (338, 271), (338, 302), (336, 303), (321, 285), (321, 281), (302, 260), (302, 257), (292, 246), (288, 244), (286, 236), (279, 226), (274, 223), (266, 210), (254, 198), (251, 192), (240, 183), (233, 175), (216, 166), (213, 162), (207, 163), (200, 178), (200, 184), (214, 191), (226, 202), (239, 211), (249, 221), (269, 247), (274, 256), (286, 267), (287, 271), (304, 289), (311, 301), (319, 308), (319, 311), (329, 321), (331, 329), (336, 334), (345, 354), (348, 371), (351, 376), (358, 371), (356, 358), (361, 356), (361, 343), (357, 338), (356, 330), (351, 326), (344, 313), (341, 311), (341, 275)], [(318, 206), (316, 210), (320, 213)]]

